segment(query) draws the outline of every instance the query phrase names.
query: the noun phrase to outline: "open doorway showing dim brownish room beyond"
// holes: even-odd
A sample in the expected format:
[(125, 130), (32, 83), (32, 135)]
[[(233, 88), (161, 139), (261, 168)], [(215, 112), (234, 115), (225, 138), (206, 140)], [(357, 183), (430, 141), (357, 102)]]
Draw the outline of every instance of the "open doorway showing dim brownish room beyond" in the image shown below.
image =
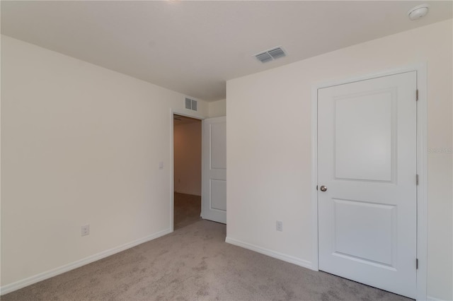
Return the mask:
[(173, 229), (200, 220), (201, 120), (173, 114)]

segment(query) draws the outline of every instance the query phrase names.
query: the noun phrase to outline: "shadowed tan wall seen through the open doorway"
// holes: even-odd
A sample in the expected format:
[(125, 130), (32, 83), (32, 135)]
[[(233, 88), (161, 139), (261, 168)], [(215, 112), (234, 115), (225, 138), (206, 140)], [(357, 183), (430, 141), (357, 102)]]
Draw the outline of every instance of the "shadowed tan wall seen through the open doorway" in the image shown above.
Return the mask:
[(176, 192), (201, 196), (201, 122), (173, 129)]

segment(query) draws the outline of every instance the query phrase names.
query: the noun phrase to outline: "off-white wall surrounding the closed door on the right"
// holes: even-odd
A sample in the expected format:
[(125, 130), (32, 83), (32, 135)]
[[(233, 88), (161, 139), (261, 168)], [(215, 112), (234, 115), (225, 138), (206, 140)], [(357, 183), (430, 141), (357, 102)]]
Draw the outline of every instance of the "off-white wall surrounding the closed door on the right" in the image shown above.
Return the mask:
[[(311, 263), (317, 83), (427, 62), (428, 147), (451, 148), (452, 25), (447, 20), (228, 81), (228, 239)], [(429, 155), (428, 181), (428, 295), (452, 300), (451, 153)], [(283, 221), (283, 232), (275, 231), (275, 220)]]

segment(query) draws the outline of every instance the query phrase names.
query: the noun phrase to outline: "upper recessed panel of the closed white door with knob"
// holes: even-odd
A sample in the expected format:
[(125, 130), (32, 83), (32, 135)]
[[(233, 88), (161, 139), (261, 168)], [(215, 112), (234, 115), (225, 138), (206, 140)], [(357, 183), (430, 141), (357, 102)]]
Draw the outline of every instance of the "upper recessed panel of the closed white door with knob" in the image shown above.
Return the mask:
[(335, 105), (335, 175), (391, 181), (396, 90), (342, 95)]

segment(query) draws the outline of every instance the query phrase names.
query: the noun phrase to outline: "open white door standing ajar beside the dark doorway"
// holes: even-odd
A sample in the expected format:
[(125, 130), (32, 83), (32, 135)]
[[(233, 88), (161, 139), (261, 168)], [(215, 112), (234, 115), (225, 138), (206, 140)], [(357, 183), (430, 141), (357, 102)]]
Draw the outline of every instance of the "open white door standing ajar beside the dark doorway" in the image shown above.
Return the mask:
[(226, 223), (226, 117), (202, 121), (202, 218)]

